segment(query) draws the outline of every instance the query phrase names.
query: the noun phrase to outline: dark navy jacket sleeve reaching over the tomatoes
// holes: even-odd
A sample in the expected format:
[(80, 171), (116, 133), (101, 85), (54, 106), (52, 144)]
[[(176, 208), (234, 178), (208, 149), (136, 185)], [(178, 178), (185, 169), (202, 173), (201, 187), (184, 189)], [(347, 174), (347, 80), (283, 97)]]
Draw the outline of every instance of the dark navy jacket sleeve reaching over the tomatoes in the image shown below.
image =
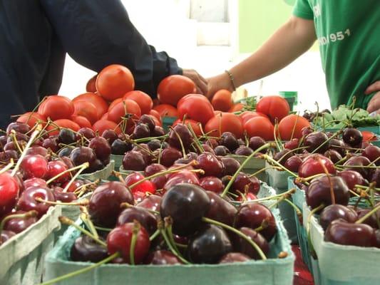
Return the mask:
[(120, 0), (41, 0), (41, 6), (65, 51), (86, 68), (122, 64), (135, 88), (152, 97), (165, 76), (182, 73), (175, 59), (146, 43)]

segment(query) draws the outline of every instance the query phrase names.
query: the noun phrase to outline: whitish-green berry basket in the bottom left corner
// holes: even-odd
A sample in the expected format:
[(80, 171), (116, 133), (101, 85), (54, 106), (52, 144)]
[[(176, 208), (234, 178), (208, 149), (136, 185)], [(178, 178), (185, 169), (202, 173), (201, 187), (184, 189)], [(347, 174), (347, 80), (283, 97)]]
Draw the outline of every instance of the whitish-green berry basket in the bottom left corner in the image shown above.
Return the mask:
[(36, 224), (1, 244), (1, 285), (41, 282), (45, 255), (53, 248), (55, 231), (61, 226), (60, 215), (61, 206), (50, 207)]

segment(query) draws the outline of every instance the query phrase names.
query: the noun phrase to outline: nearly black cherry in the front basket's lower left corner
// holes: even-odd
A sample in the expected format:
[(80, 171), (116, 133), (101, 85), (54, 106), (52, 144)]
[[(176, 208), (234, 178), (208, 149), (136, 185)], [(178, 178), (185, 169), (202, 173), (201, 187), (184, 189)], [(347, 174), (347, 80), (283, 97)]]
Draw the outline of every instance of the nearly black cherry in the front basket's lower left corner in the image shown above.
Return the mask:
[(108, 257), (105, 247), (95, 242), (91, 237), (83, 235), (78, 237), (71, 247), (70, 257), (72, 261), (90, 261), (96, 263)]

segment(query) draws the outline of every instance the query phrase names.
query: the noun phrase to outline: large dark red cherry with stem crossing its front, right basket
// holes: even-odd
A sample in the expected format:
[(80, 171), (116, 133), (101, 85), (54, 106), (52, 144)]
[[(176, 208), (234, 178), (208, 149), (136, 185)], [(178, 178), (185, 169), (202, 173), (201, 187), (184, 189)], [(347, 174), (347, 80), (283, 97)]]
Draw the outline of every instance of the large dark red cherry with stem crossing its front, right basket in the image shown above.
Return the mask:
[(349, 187), (347, 187), (346, 182), (339, 176), (323, 175), (314, 178), (306, 191), (306, 202), (309, 207), (314, 209), (321, 204), (324, 204), (325, 207), (332, 204), (330, 182), (334, 191), (335, 202), (344, 206), (349, 203)]

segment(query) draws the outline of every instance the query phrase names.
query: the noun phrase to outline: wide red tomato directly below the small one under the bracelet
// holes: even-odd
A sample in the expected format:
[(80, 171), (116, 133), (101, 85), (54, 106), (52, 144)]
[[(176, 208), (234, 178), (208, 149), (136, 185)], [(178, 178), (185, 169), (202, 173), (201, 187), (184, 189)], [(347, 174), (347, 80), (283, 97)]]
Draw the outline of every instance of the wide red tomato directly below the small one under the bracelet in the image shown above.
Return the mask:
[(220, 137), (222, 133), (231, 132), (237, 138), (241, 138), (243, 134), (242, 119), (232, 113), (221, 113), (207, 122), (205, 133), (209, 132), (212, 132), (210, 135), (214, 137)]

